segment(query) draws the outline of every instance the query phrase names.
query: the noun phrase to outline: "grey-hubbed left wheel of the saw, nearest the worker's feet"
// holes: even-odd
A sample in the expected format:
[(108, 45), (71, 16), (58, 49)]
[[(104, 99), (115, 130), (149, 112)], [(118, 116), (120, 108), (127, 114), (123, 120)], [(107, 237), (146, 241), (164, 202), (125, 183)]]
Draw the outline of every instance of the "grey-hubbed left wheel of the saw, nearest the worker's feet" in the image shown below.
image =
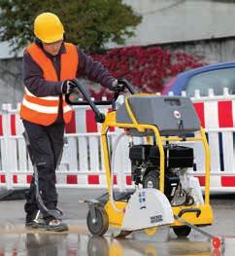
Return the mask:
[(89, 232), (95, 236), (103, 236), (109, 228), (109, 218), (106, 211), (101, 207), (95, 207), (96, 220), (93, 222), (90, 210), (86, 217), (86, 225)]

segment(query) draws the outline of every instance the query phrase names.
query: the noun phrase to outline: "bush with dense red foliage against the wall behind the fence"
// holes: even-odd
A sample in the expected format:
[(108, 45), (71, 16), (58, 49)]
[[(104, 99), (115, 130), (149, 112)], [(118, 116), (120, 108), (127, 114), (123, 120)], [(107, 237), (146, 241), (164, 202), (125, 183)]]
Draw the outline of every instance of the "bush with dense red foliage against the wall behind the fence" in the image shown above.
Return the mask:
[[(162, 91), (163, 85), (172, 77), (185, 71), (205, 65), (202, 56), (171, 52), (160, 47), (124, 47), (113, 49), (106, 55), (92, 55), (101, 61), (116, 78), (125, 78), (142, 92)], [(100, 88), (91, 95), (101, 98), (110, 91)]]

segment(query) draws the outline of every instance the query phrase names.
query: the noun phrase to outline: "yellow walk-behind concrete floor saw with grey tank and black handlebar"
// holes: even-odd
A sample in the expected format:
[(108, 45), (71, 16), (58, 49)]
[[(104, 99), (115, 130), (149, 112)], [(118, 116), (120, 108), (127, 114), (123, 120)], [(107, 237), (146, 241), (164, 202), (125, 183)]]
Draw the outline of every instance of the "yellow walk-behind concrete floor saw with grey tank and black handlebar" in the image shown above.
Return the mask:
[[(95, 120), (102, 124), (101, 141), (106, 169), (108, 193), (85, 201), (88, 203), (86, 224), (89, 232), (103, 236), (109, 227), (119, 229), (118, 237), (133, 231), (170, 226), (178, 237), (186, 237), (195, 226), (213, 223), (210, 205), (210, 151), (204, 129), (188, 97), (159, 96), (136, 93), (125, 80), (118, 80), (118, 89), (112, 100), (92, 101), (84, 87), (77, 81), (78, 89), (66, 94), (70, 105), (89, 105)], [(117, 108), (121, 91), (129, 91), (123, 104)], [(84, 101), (78, 100), (78, 93)], [(112, 105), (104, 115), (97, 105)], [(130, 138), (129, 159), (135, 189), (114, 193), (113, 152), (107, 139), (109, 128), (121, 128)], [(197, 134), (197, 135), (195, 135)], [(133, 144), (133, 137), (144, 143)], [(205, 152), (205, 201), (198, 179), (187, 169), (194, 165), (193, 148), (185, 142), (202, 143)], [(189, 223), (190, 225), (187, 225)], [(199, 229), (199, 228), (198, 228)]]

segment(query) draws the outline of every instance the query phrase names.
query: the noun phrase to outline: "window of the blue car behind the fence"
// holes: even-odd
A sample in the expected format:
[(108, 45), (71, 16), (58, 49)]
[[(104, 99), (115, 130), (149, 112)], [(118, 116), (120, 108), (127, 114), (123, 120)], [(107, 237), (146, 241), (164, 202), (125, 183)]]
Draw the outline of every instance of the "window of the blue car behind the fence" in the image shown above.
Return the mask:
[(201, 96), (208, 95), (208, 89), (213, 89), (215, 95), (222, 95), (223, 88), (228, 88), (230, 94), (235, 94), (235, 68), (223, 68), (203, 72), (189, 79), (186, 84), (186, 94), (193, 96), (195, 90), (200, 90)]

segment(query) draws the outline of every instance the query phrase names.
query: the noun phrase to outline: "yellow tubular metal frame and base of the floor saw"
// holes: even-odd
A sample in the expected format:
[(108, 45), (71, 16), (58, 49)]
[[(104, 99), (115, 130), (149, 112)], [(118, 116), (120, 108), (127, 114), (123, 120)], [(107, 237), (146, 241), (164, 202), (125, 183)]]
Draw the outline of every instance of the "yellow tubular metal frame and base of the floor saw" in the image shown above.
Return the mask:
[[(143, 93), (133, 94), (133, 96), (140, 96), (140, 95), (146, 95)], [(150, 95), (150, 94), (149, 94)], [(156, 96), (155, 94), (151, 94)], [(192, 205), (192, 206), (173, 206), (173, 213), (175, 215), (179, 215), (180, 212), (184, 211), (184, 219), (185, 221), (194, 224), (196, 226), (207, 226), (211, 225), (213, 223), (213, 211), (212, 207), (210, 205), (210, 150), (208, 146), (208, 142), (206, 139), (205, 131), (201, 127), (200, 128), (200, 135), (197, 137), (186, 137), (182, 138), (179, 136), (172, 136), (172, 137), (165, 137), (161, 136), (158, 128), (152, 125), (140, 125), (136, 121), (134, 114), (130, 108), (128, 97), (125, 98), (125, 107), (128, 112), (128, 115), (132, 121), (132, 124), (124, 124), (124, 123), (117, 123), (116, 119), (116, 111), (112, 111), (106, 115), (105, 122), (102, 124), (101, 128), (101, 138), (102, 138), (102, 145), (103, 145), (103, 153), (104, 153), (104, 164), (106, 169), (106, 177), (107, 177), (107, 184), (108, 184), (108, 190), (109, 190), (109, 201), (105, 205), (105, 210), (109, 216), (109, 224), (113, 227), (121, 228), (125, 207), (127, 202), (126, 201), (114, 201), (116, 208), (118, 211), (114, 208), (113, 202), (110, 200), (110, 197), (112, 195), (111, 190), (113, 189), (111, 187), (111, 169), (110, 169), (110, 154), (109, 154), (109, 147), (108, 147), (108, 140), (107, 140), (107, 132), (109, 128), (116, 127), (116, 128), (137, 128), (139, 131), (145, 131), (146, 129), (151, 129), (154, 132), (155, 139), (157, 142), (157, 146), (159, 148), (159, 154), (160, 154), (160, 171), (159, 171), (159, 190), (164, 193), (164, 172), (165, 172), (165, 166), (164, 166), (164, 150), (163, 150), (163, 142), (165, 141), (202, 141), (204, 145), (204, 151), (205, 151), (205, 203), (201, 205)], [(151, 143), (151, 137), (146, 136), (147, 141)], [(200, 214), (196, 214), (196, 212), (193, 212), (193, 209), (197, 209), (200, 211)], [(187, 210), (188, 209), (188, 210)], [(192, 210), (190, 212), (190, 209)], [(171, 227), (176, 226), (183, 226), (183, 224), (180, 221), (175, 221)]]

